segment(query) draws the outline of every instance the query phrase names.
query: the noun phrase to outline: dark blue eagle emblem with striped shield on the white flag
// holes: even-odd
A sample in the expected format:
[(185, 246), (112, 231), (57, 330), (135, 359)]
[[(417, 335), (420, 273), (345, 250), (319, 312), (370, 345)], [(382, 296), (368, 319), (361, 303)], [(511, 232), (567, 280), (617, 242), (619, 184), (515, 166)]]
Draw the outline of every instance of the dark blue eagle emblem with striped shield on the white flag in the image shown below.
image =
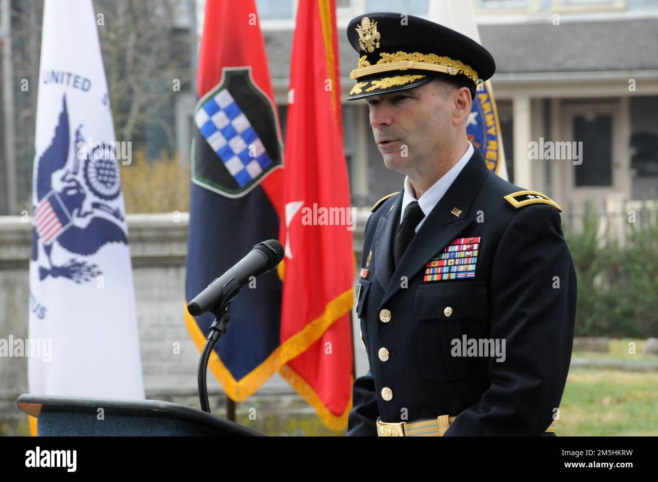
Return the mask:
[(39, 262), (41, 281), (51, 276), (82, 283), (99, 276), (99, 266), (75, 256), (59, 264), (53, 259), (53, 248), (91, 256), (107, 243), (128, 244), (128, 235), (121, 205), (114, 202), (121, 193), (114, 146), (98, 143), (87, 149), (80, 125), (76, 149), (70, 149), (69, 124), (63, 95), (55, 133), (36, 164), (32, 260)]

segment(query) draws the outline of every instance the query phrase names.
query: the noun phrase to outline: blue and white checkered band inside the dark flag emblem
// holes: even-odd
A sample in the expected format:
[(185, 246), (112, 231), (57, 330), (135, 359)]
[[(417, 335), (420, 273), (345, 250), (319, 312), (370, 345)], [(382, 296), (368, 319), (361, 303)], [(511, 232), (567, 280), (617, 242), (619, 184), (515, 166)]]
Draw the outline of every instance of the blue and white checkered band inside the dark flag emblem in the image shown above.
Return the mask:
[(263, 142), (227, 89), (206, 99), (194, 120), (240, 187), (272, 164)]

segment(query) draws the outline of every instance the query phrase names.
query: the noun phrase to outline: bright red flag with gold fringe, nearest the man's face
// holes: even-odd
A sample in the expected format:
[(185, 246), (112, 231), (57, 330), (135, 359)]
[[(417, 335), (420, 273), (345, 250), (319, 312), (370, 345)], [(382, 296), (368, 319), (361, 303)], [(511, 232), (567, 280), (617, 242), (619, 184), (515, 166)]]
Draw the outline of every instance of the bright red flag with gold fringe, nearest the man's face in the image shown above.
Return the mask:
[[(351, 408), (355, 260), (343, 153), (336, 0), (298, 4), (288, 94), (279, 371), (331, 429)], [(285, 221), (285, 222), (284, 222)]]

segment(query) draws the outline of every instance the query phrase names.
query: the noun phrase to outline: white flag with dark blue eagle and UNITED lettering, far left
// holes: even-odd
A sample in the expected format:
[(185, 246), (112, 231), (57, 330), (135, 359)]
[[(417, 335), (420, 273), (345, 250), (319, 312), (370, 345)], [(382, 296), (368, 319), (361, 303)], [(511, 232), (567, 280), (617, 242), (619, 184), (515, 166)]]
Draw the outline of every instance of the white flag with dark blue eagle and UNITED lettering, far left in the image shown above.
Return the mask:
[(126, 210), (91, 0), (45, 0), (30, 393), (144, 398)]

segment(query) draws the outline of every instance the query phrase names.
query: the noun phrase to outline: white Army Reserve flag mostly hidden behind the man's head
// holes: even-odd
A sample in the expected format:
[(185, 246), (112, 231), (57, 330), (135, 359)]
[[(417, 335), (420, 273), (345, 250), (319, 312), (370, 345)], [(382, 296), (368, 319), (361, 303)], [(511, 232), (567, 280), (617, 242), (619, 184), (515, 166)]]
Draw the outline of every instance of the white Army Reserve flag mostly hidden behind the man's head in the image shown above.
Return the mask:
[[(428, 20), (451, 28), (482, 45), (470, 0), (430, 0), (427, 16)], [(507, 181), (503, 135), (490, 80), (484, 82), (475, 93), (466, 133), (473, 147), (480, 149), (487, 166)]]

